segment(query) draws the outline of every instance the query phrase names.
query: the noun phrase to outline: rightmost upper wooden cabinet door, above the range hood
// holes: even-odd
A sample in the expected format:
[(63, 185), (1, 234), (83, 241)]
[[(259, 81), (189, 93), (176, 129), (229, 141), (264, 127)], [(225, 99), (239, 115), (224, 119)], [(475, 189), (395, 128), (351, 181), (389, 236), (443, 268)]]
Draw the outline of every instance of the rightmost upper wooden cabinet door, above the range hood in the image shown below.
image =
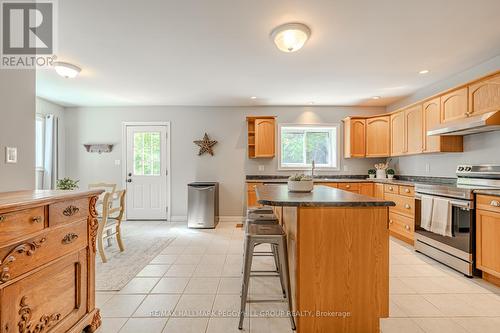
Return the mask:
[(500, 110), (500, 74), (469, 86), (469, 114)]

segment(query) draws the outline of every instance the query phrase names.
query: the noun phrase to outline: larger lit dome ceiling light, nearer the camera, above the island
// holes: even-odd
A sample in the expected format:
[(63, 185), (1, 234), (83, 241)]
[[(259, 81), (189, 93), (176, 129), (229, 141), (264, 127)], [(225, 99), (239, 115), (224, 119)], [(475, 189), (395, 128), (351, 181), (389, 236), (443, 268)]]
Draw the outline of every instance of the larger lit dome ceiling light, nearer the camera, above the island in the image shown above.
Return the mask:
[(276, 47), (287, 53), (300, 50), (309, 36), (311, 36), (311, 30), (302, 23), (286, 23), (271, 31), (271, 38)]

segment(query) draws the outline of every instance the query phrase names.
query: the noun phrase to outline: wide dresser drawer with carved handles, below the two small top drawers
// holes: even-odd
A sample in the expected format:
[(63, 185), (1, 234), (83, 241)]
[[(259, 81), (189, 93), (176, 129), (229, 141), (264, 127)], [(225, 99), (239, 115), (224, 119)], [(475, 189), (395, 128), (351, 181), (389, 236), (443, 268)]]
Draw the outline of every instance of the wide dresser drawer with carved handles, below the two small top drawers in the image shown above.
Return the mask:
[(87, 246), (87, 220), (55, 228), (0, 248), (0, 285), (49, 261)]

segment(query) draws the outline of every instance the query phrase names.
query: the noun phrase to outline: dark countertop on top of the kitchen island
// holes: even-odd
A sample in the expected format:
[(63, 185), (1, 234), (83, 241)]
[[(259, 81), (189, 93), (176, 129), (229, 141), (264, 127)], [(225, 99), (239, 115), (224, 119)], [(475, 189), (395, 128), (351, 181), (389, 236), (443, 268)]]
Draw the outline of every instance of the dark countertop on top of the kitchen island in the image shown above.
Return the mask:
[(392, 201), (380, 200), (336, 188), (315, 185), (312, 192), (289, 192), (287, 185), (261, 185), (256, 188), (257, 201), (267, 206), (296, 207), (388, 207)]

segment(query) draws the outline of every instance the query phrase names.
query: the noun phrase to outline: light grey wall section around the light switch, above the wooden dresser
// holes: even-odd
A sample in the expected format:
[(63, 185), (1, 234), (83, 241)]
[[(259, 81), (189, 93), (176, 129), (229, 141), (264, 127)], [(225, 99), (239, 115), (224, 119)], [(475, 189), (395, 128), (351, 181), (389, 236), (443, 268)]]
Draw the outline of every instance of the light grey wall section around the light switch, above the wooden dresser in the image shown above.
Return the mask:
[[(5, 163), (17, 147), (18, 163)], [(35, 71), (0, 70), (0, 192), (35, 188)]]

